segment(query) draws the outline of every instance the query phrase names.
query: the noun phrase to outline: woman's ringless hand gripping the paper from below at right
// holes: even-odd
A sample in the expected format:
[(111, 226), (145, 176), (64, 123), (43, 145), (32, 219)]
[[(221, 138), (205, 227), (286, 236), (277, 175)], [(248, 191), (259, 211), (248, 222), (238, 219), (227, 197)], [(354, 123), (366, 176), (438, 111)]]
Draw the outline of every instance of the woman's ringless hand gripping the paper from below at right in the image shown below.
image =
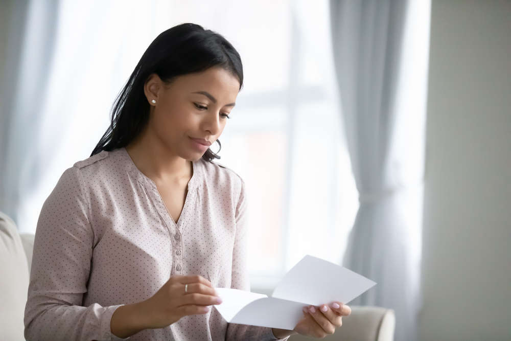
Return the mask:
[(273, 328), (273, 335), (284, 338), (298, 333), (312, 337), (325, 337), (334, 333), (335, 329), (342, 325), (342, 316), (351, 313), (349, 306), (339, 302), (332, 305), (322, 304), (319, 307), (304, 307), (304, 318), (298, 322), (294, 330)]

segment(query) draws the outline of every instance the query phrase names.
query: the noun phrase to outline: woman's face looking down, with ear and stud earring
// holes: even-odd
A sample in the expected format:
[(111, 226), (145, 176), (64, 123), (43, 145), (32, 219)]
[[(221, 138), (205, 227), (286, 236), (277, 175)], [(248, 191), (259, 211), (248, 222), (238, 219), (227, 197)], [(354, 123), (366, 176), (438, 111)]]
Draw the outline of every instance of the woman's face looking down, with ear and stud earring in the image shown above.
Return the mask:
[(172, 154), (199, 160), (220, 137), (239, 89), (238, 78), (221, 67), (179, 76), (170, 84), (153, 74), (144, 87), (151, 105), (148, 132)]

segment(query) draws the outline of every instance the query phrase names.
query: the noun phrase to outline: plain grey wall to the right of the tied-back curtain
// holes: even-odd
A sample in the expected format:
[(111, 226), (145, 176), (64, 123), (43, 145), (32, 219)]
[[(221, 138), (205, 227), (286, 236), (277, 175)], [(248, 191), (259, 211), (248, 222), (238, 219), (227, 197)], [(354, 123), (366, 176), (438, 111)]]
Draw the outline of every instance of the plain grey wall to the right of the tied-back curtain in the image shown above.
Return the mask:
[(511, 1), (431, 13), (421, 340), (511, 339)]

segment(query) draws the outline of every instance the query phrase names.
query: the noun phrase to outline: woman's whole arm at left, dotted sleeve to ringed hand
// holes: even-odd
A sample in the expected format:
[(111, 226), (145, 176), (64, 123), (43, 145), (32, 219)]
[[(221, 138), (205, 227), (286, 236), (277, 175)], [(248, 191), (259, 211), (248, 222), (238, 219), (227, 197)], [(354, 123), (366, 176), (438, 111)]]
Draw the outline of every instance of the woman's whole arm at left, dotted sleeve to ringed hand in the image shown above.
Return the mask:
[(206, 313), (207, 306), (219, 303), (213, 286), (204, 278), (176, 276), (143, 302), (83, 307), (92, 249), (98, 242), (85, 193), (80, 170), (70, 168), (41, 210), (25, 309), (27, 339), (128, 337), (144, 329), (166, 327), (184, 315)]

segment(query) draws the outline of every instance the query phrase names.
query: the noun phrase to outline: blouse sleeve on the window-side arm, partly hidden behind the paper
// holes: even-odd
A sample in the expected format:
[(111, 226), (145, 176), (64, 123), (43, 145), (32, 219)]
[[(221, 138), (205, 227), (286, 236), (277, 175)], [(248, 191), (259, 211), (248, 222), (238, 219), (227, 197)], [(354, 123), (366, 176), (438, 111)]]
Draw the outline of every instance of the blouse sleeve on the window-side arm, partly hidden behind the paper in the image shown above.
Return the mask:
[[(233, 270), (231, 288), (250, 291), (247, 264), (247, 202), (245, 197), (245, 184), (242, 182), (241, 195), (236, 207), (236, 237), (233, 250)], [(227, 326), (226, 341), (236, 340), (276, 340), (271, 328), (247, 326), (229, 323)], [(287, 337), (282, 339), (287, 340)]]

